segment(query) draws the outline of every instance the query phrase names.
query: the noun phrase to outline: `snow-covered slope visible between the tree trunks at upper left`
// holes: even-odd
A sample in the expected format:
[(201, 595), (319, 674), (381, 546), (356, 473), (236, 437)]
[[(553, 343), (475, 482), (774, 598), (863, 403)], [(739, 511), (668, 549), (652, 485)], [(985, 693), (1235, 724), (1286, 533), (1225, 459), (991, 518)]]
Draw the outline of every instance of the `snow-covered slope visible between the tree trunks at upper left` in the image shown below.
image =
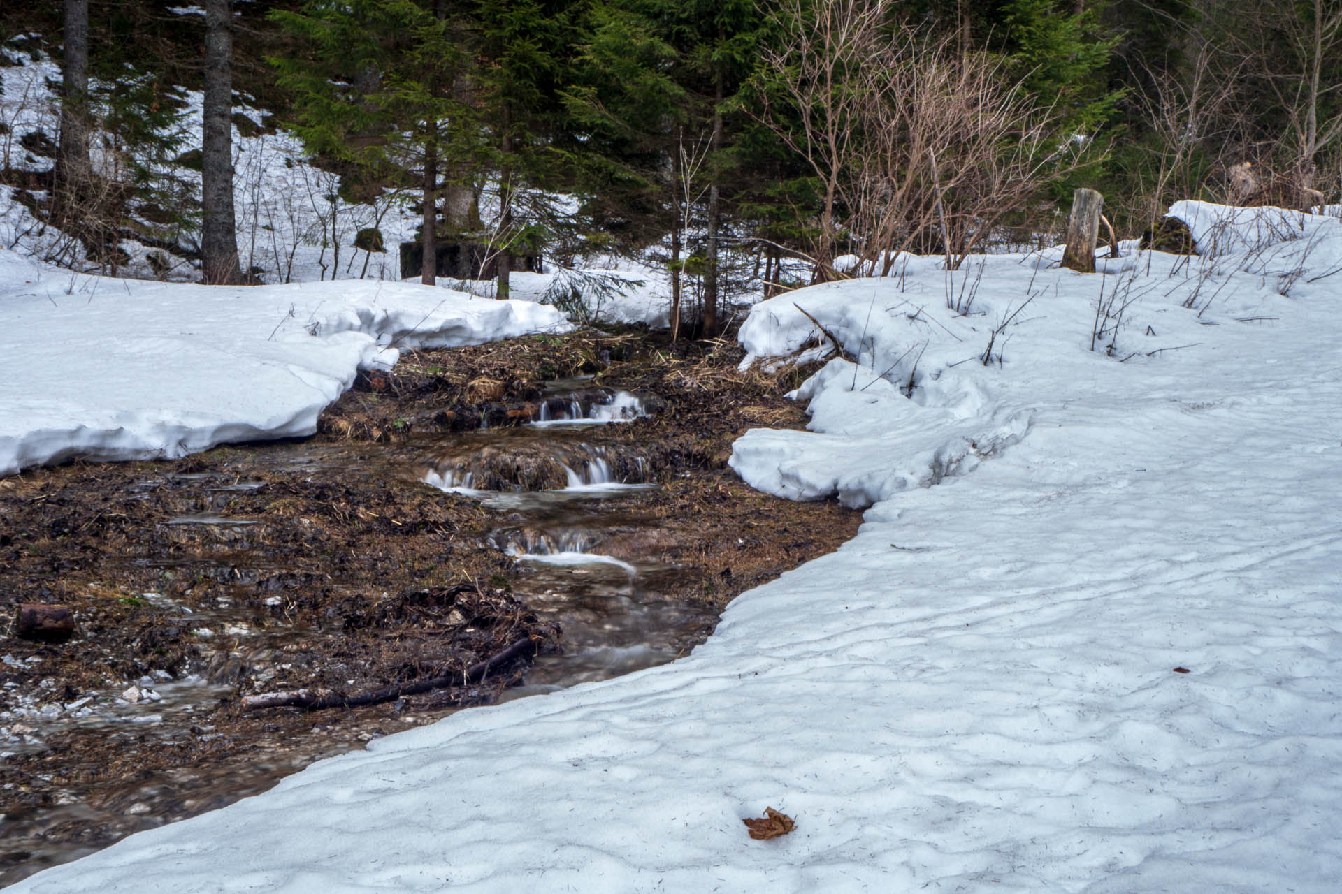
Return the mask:
[[(184, 15), (189, 12), (184, 8)], [(59, 83), (60, 70), (51, 60), (11, 59), (0, 66), (0, 168), (50, 170), (51, 159), (24, 147), (25, 134), (58, 133), (58, 102), (52, 84)], [(176, 131), (183, 155), (200, 150), (201, 94), (181, 91), (185, 117)], [(266, 283), (311, 283), (342, 280), (397, 280), (400, 277), (399, 245), (416, 239), (420, 217), (412, 213), (409, 197), (386, 193), (370, 204), (354, 204), (338, 196), (340, 178), (314, 166), (299, 141), (285, 131), (262, 129), (268, 115), (242, 107), (235, 119), (252, 122), (247, 133), (234, 126), (234, 202), (238, 222), (238, 249), (244, 269), (254, 271)], [(115, 158), (102, 151), (97, 155), (105, 168)], [(183, 188), (200, 194), (200, 172), (189, 165), (168, 164), (161, 172), (181, 181)], [(44, 198), (44, 193), (31, 193)], [(482, 197), (488, 214), (497, 198)], [(187, 202), (176, 210), (183, 210)], [(148, 233), (177, 241), (184, 252), (199, 249), (193, 233), (180, 237), (142, 216), (136, 221)], [(354, 247), (356, 235), (364, 228), (377, 228), (385, 252), (368, 252)], [(38, 222), (17, 198), (17, 190), (0, 185), (0, 245), (20, 256), (42, 263), (107, 272), (89, 261), (79, 241), (55, 227)], [(129, 257), (121, 271), (125, 276), (193, 281), (200, 279), (197, 264), (170, 255), (152, 243), (133, 239), (121, 241)], [(655, 288), (666, 279), (658, 265), (613, 259), (588, 259), (590, 269), (565, 271), (546, 263), (544, 273), (514, 273), (514, 298), (553, 303), (569, 292), (582, 298), (585, 312), (607, 323), (648, 323), (667, 326), (670, 302), (667, 288)], [(417, 277), (416, 277), (417, 279)], [(593, 288), (595, 281), (608, 280), (616, 288)], [(466, 288), (493, 296), (494, 283), (450, 281), (450, 288)], [(576, 307), (572, 310), (577, 310)]]

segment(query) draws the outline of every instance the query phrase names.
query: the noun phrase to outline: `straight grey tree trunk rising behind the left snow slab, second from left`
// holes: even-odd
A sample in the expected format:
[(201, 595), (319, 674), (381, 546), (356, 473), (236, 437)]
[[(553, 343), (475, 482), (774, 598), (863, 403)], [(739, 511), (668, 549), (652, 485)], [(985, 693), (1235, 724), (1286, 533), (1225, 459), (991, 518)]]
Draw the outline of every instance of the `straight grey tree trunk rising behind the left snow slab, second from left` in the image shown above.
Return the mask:
[(201, 134), (201, 272), (207, 283), (240, 283), (234, 218), (232, 3), (205, 0), (205, 102)]

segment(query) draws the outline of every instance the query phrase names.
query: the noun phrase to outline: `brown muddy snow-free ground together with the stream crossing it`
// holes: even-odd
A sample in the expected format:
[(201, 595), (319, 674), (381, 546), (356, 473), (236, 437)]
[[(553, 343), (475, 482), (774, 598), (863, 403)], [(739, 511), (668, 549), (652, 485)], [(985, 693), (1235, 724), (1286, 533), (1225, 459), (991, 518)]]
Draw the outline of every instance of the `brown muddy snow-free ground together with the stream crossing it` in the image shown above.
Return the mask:
[(454, 710), (674, 661), (849, 539), (856, 513), (726, 468), (747, 428), (804, 424), (781, 395), (807, 370), (738, 361), (632, 332), (424, 351), (313, 438), (0, 480), (3, 617), (78, 625), (0, 642), (0, 885)]

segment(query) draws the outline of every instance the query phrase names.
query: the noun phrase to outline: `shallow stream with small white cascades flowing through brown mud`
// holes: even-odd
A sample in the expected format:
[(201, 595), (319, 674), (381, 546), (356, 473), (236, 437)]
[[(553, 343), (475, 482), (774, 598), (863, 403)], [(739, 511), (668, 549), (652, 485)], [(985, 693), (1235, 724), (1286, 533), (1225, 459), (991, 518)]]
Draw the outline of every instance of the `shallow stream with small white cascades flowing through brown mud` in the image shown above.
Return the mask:
[[(525, 426), (424, 436), (396, 445), (289, 442), (246, 449), (254, 452), (262, 469), (301, 470), (310, 473), (309, 480), (374, 469), (376, 474), (412, 477), (466, 495), (488, 509), (497, 519), (488, 544), (514, 562), (509, 575), (513, 594), (562, 631), (562, 650), (539, 654), (523, 684), (501, 696), (511, 700), (672, 661), (701, 642), (715, 622), (711, 609), (666, 595), (675, 590), (683, 571), (656, 560), (667, 535), (651, 515), (640, 512), (640, 500), (656, 489), (652, 470), (628, 446), (616, 449), (603, 442), (605, 426), (639, 418), (655, 403), (655, 398), (568, 379), (549, 383), (537, 421)], [(48, 739), (72, 730), (91, 730), (109, 747), (125, 743), (144, 748), (148, 743), (172, 748), (189, 741), (208, 753), (212, 737), (223, 733), (201, 726), (200, 717), (221, 700), (234, 698), (240, 680), (250, 678), (263, 688), (303, 642), (341, 637), (338, 625), (327, 630), (286, 623), (283, 591), (263, 600), (270, 617), (258, 623), (255, 604), (243, 603), (244, 588), (290, 570), (274, 566), (256, 548), (256, 532), (266, 520), (229, 515), (227, 505), (238, 493), (255, 492), (266, 483), (236, 480), (216, 485), (217, 474), (212, 473), (168, 477), (183, 483), (192, 474), (200, 478), (195, 484), (208, 485), (209, 505), (162, 524), (183, 536), (208, 537), (207, 560), (193, 554), (126, 562), (148, 563), (165, 578), (177, 567), (185, 568), (207, 579), (215, 587), (211, 592), (220, 594), (212, 606), (195, 609), (161, 592), (129, 596), (161, 610), (165, 623), (189, 631), (200, 643), (200, 661), (177, 677), (157, 672), (110, 690), (67, 692), (72, 698), (43, 693), (43, 688), (54, 685), (50, 680), (35, 694), (9, 692), (16, 701), (9, 700), (9, 709), (0, 712), (0, 752), (5, 757), (39, 755), (48, 751)], [(164, 484), (162, 478), (148, 478), (144, 488), (148, 493)], [(228, 594), (231, 586), (238, 588), (236, 599)], [(331, 580), (330, 586), (340, 591), (342, 582)], [(12, 666), (23, 663), (13, 655), (0, 659)], [(13, 684), (7, 686), (13, 689)], [(318, 712), (305, 721), (317, 735), (303, 737), (286, 737), (276, 725), (264, 724), (242, 761), (213, 765), (191, 760), (169, 769), (154, 767), (152, 772), (119, 769), (114, 793), (101, 789), (97, 803), (82, 795), (78, 783), (63, 788), (66, 793), (50, 806), (13, 807), (5, 797), (0, 883), (99, 850), (110, 843), (107, 830), (117, 830), (119, 836), (224, 806), (264, 791), (313, 760), (455, 710), (407, 708), (403, 702)], [(89, 772), (97, 776), (98, 769)], [(86, 827), (83, 832), (81, 827)]]

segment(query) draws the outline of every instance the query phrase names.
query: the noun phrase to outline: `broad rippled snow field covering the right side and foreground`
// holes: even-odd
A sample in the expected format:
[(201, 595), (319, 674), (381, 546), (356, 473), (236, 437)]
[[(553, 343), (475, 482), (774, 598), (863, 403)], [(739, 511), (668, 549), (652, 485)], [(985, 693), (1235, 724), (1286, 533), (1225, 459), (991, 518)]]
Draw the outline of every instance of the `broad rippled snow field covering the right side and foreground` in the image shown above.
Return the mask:
[[(691, 655), (11, 890), (1335, 891), (1342, 224), (1177, 210), (1223, 253), (909, 259), (757, 306), (757, 357), (815, 335), (796, 304), (858, 365), (733, 465), (870, 508)], [(766, 807), (796, 831), (750, 840)]]

